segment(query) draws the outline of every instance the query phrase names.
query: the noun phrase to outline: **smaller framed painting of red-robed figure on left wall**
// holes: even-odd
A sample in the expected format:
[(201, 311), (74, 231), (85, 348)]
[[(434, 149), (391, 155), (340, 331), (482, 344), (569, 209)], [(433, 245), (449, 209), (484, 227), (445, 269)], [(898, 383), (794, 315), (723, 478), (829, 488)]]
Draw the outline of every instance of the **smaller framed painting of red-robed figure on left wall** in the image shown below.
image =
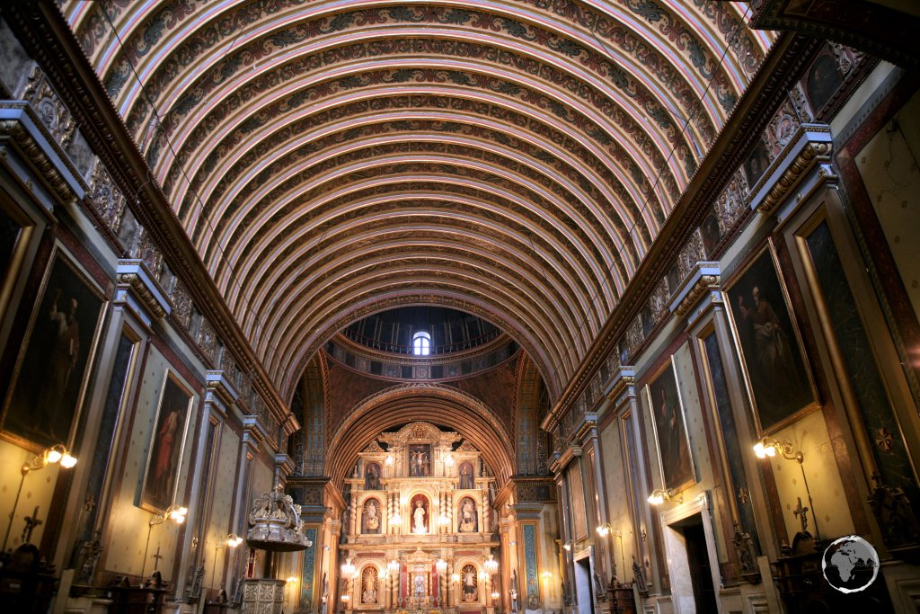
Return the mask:
[(192, 397), (178, 377), (167, 371), (144, 470), (141, 506), (145, 509), (162, 512), (176, 500)]

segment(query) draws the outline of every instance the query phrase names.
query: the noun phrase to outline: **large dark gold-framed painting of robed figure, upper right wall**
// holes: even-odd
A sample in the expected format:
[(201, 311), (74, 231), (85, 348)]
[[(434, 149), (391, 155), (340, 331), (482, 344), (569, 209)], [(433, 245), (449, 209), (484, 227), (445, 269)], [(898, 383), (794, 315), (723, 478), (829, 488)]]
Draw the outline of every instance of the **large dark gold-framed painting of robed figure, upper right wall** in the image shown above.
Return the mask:
[(773, 249), (758, 253), (725, 294), (761, 432), (780, 428), (817, 407), (799, 332), (776, 272)]

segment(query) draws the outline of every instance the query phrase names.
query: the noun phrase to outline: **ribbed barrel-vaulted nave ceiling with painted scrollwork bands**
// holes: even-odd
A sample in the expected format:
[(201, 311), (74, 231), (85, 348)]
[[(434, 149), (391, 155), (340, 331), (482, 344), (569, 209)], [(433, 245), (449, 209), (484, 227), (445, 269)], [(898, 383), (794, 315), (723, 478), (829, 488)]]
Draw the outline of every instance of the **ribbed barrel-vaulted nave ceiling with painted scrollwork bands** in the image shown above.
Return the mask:
[(62, 3), (282, 396), (375, 311), (577, 370), (764, 59), (747, 3)]

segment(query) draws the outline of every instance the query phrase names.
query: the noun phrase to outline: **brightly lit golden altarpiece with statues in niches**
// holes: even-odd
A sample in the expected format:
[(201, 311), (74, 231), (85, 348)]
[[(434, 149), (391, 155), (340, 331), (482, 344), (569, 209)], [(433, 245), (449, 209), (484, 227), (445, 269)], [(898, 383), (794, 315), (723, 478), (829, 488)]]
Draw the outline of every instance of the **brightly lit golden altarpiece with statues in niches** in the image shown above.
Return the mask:
[(494, 480), (480, 452), (430, 423), (359, 455), (342, 545), (346, 612), (493, 612)]

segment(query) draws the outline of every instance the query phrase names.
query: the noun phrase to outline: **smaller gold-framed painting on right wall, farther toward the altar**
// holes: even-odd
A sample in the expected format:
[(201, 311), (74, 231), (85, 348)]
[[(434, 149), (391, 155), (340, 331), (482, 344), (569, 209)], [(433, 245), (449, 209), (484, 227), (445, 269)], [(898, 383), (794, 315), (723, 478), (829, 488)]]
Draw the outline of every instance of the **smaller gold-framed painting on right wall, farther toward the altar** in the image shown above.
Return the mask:
[(665, 489), (678, 492), (696, 482), (696, 473), (690, 453), (684, 404), (674, 374), (672, 356), (646, 387), (646, 394), (651, 426), (658, 442), (661, 482)]

